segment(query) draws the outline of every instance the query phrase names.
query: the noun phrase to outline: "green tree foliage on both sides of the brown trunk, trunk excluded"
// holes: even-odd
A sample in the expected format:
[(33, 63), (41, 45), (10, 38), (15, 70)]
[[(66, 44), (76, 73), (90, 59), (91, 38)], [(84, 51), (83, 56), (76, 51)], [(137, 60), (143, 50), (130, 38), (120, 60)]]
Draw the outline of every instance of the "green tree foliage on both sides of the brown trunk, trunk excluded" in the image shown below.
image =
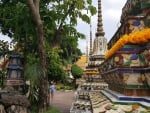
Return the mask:
[[(62, 62), (76, 61), (81, 51), (78, 39), (85, 36), (75, 28), (77, 19), (90, 22), (89, 16), (96, 14), (92, 0), (41, 0), (40, 17), (46, 39), (47, 68), (50, 80), (66, 79)], [(83, 13), (87, 11), (87, 13)], [(37, 100), (37, 91), (42, 72), (39, 55), (36, 27), (25, 0), (0, 1), (0, 31), (17, 43), (17, 48), (24, 54), (25, 77), (31, 81), (30, 100)], [(53, 51), (57, 47), (58, 51)], [(1, 52), (4, 54), (3, 52)], [(79, 76), (79, 75), (78, 75)], [(56, 113), (56, 112), (55, 112)]]

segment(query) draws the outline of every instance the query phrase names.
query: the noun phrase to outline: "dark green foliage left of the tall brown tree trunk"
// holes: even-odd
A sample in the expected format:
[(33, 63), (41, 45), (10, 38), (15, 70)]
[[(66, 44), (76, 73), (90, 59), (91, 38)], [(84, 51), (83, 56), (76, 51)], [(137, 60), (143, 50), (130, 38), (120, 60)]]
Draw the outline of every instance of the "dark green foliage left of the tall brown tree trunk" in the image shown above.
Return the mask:
[(37, 52), (36, 27), (24, 0), (0, 2), (0, 28), (17, 44), (21, 52)]

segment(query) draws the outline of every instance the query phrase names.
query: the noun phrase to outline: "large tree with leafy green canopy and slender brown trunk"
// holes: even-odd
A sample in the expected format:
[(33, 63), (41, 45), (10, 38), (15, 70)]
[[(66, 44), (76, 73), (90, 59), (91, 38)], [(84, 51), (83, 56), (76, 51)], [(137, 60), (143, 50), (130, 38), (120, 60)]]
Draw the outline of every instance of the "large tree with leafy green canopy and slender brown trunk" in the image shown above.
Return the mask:
[(46, 81), (39, 87), (42, 112), (48, 103), (48, 92), (44, 89), (47, 87), (44, 86), (48, 84), (46, 60), (48, 57), (51, 61), (49, 52), (59, 48), (63, 52), (59, 53), (62, 59), (70, 58), (72, 61), (72, 57), (77, 58), (78, 39), (85, 38), (75, 28), (77, 18), (89, 23), (90, 19), (83, 10), (93, 15), (96, 8), (92, 6), (92, 0), (1, 0), (0, 10), (0, 29), (17, 42), (25, 57), (24, 65), (33, 65), (28, 63), (31, 54), (41, 65), (40, 82)]

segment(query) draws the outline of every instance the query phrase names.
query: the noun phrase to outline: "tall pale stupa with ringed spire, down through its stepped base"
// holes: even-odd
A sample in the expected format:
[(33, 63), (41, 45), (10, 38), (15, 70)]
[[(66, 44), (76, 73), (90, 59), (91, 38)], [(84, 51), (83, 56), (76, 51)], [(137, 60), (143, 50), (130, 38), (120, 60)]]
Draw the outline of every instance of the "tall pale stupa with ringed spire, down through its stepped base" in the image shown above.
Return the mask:
[(104, 62), (104, 54), (107, 51), (107, 40), (104, 37), (105, 33), (102, 25), (101, 0), (98, 0), (98, 23), (93, 47), (91, 27), (92, 25), (90, 24), (90, 51), (84, 75), (86, 81), (78, 87), (76, 92), (77, 98), (72, 104), (70, 113), (94, 113), (93, 93), (100, 92), (108, 87), (98, 70), (100, 64)]

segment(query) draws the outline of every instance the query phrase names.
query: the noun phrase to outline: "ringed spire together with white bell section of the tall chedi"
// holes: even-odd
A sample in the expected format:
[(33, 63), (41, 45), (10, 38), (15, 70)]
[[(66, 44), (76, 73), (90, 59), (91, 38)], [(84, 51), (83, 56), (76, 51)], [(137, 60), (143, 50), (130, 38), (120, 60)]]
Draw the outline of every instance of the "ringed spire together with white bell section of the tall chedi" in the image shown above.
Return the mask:
[(104, 37), (102, 24), (101, 0), (98, 0), (98, 23), (97, 33), (93, 44), (93, 55), (104, 55), (107, 51), (107, 39)]

